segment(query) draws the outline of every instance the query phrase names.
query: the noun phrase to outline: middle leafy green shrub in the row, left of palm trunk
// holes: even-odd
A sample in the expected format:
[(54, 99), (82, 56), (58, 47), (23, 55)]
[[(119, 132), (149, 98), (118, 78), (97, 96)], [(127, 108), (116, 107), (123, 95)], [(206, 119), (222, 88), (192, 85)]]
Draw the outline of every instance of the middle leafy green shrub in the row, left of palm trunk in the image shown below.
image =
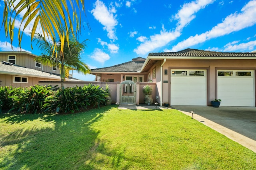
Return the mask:
[(36, 113), (41, 111), (43, 102), (47, 96), (50, 95), (52, 86), (34, 85), (29, 88), (21, 88), (19, 94), (10, 96), (13, 105), (10, 111), (17, 111), (18, 113)]

